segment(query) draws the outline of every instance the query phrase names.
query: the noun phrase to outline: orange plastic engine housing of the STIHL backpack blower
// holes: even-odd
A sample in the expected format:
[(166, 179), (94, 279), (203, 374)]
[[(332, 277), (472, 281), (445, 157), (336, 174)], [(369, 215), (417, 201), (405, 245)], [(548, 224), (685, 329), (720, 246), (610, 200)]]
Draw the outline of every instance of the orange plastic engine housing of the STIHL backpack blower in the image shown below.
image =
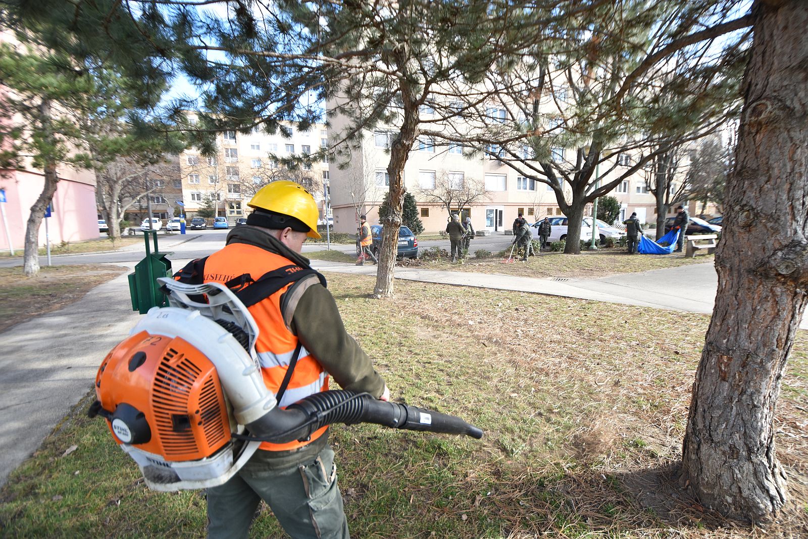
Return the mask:
[(95, 377), (118, 444), (166, 461), (211, 457), (230, 440), (216, 368), (180, 337), (140, 331), (112, 349)]

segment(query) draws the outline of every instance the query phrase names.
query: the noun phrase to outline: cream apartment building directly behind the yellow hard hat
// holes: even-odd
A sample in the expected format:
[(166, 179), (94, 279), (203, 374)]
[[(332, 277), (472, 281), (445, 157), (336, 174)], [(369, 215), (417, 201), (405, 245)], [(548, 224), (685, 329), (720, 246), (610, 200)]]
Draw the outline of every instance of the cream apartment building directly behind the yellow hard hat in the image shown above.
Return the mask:
[(324, 185), (329, 180), (328, 163), (310, 161), (284, 165), (292, 156), (315, 154), (328, 145), (326, 127), (315, 124), (307, 132), (284, 124), (285, 136), (226, 131), (218, 135), (218, 152), (205, 157), (198, 149), (187, 149), (179, 156), (182, 200), (188, 217), (193, 217), (207, 200), (213, 201), (217, 216), (233, 224), (252, 210), (246, 205), (261, 187), (278, 179), (301, 183), (318, 200), (325, 212)]

